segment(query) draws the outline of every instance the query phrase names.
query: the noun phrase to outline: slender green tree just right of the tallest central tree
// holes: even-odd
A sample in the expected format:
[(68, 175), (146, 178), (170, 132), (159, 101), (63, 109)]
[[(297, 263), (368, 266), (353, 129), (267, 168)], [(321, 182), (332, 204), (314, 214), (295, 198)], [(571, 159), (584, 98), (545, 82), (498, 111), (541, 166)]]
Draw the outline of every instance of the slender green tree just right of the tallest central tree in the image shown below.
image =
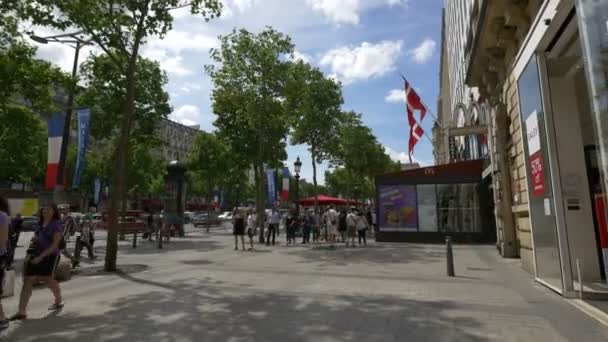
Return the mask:
[(318, 211), (317, 164), (329, 160), (341, 125), (344, 102), (340, 83), (299, 61), (292, 66), (287, 87), (287, 108), (293, 116), (292, 144), (307, 144), (312, 159), (313, 196)]

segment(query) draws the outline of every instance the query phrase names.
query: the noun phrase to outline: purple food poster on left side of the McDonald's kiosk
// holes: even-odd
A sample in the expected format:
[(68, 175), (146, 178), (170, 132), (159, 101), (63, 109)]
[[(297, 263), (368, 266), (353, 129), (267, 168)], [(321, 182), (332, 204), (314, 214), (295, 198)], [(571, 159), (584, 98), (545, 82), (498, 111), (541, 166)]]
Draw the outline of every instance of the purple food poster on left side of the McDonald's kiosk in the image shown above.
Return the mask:
[(417, 231), (416, 186), (385, 185), (380, 187), (380, 230)]

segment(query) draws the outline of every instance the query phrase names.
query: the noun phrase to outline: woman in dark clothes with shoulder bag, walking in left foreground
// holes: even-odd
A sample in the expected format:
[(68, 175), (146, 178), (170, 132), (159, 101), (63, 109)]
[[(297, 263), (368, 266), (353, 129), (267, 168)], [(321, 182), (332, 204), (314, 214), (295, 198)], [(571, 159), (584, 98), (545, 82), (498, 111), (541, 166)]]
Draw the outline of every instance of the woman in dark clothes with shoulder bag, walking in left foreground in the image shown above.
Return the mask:
[(10, 319), (24, 320), (27, 318), (27, 305), (32, 297), (34, 284), (42, 280), (47, 284), (55, 301), (49, 307), (50, 311), (61, 310), (64, 306), (61, 298), (59, 283), (54, 278), (55, 267), (59, 263), (59, 253), (62, 240), (62, 227), (59, 211), (56, 205), (42, 209), (41, 225), (36, 231), (28, 247), (23, 270), (23, 287), (19, 296), (19, 311)]

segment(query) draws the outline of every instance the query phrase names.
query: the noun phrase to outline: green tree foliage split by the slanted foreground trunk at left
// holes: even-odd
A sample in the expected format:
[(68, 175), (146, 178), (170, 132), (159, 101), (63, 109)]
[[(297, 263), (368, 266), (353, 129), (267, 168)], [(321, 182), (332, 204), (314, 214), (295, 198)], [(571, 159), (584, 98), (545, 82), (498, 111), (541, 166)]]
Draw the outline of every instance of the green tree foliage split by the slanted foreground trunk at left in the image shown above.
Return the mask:
[[(169, 94), (163, 89), (168, 77), (158, 62), (139, 57), (136, 70), (135, 108), (129, 131), (131, 154), (126, 183), (131, 197), (162, 191), (166, 169), (160, 154), (154, 151), (159, 151), (164, 143), (158, 136), (158, 127), (172, 111)], [(106, 54), (89, 57), (81, 66), (80, 75), (87, 88), (82, 91), (79, 102), (91, 108), (91, 136), (101, 142), (97, 144), (96, 152), (110, 156), (105, 171), (111, 171), (115, 165), (112, 160), (118, 149), (115, 136), (120, 129), (120, 123), (115, 118), (122, 111), (127, 83), (121, 76), (121, 69)], [(103, 173), (107, 174), (111, 173)]]

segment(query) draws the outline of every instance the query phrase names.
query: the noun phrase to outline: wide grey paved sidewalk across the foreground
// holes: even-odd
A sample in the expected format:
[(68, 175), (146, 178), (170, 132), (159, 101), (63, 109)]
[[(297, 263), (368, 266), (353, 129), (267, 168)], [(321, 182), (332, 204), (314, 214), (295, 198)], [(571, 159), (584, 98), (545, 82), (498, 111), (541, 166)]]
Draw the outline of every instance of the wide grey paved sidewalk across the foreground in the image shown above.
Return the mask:
[[(143, 267), (75, 276), (56, 315), (45, 312), (50, 293), (36, 290), (8, 341), (608, 340), (608, 328), (492, 246), (455, 246), (457, 277), (447, 278), (440, 245), (237, 252), (222, 230), (160, 252), (127, 243), (119, 264)], [(3, 304), (12, 313), (16, 297)]]

